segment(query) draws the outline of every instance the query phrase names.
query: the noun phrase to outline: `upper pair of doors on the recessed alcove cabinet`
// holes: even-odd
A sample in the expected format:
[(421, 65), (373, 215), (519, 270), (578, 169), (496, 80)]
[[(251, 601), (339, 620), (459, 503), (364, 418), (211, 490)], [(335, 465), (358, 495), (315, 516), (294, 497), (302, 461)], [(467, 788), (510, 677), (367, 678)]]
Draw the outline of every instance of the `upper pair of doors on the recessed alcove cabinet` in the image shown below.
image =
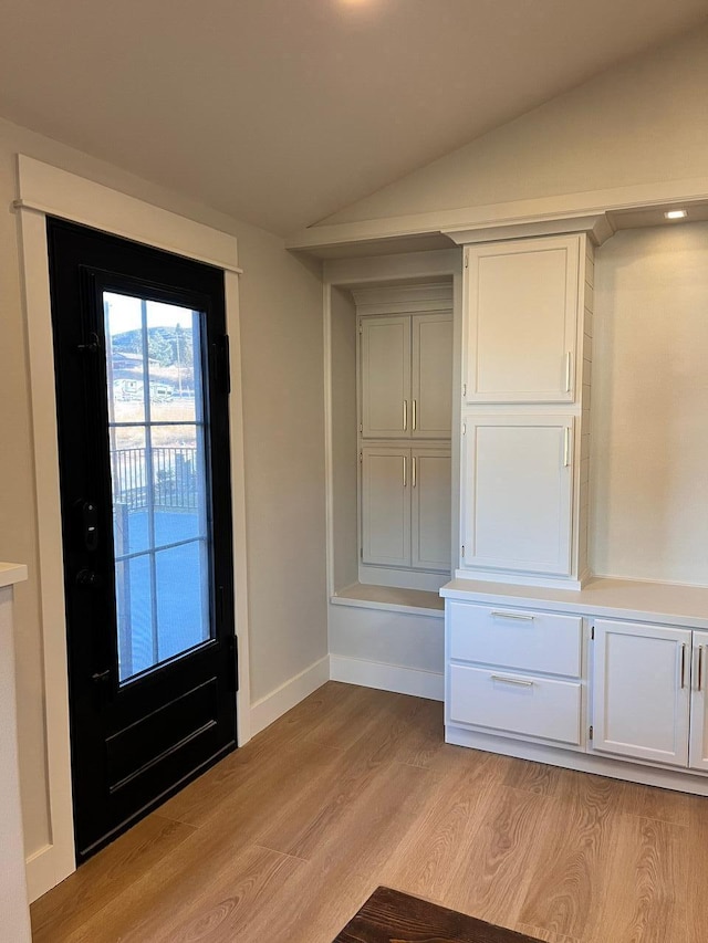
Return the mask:
[(445, 439), (452, 413), (452, 317), (362, 318), (364, 439)]

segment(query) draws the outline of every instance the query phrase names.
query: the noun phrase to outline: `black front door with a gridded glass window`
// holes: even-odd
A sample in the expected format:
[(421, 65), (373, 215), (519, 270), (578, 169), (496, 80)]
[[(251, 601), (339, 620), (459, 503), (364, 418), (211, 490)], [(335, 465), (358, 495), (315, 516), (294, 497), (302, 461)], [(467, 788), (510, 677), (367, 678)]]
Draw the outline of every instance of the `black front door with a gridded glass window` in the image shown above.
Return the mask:
[(236, 746), (223, 273), (48, 220), (76, 855)]

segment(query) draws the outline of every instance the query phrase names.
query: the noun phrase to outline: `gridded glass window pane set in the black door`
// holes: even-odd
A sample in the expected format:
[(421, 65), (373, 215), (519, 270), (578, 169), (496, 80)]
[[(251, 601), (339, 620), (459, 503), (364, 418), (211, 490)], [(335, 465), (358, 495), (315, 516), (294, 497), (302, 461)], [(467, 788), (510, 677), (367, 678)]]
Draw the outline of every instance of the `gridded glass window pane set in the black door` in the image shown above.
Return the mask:
[(204, 315), (104, 292), (122, 682), (211, 637)]

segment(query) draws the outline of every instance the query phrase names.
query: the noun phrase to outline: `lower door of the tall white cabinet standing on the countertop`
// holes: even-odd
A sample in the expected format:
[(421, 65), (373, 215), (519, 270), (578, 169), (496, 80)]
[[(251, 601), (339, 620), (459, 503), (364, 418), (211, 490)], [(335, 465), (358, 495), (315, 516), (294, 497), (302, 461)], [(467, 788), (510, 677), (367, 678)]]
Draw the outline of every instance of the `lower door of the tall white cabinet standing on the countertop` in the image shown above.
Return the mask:
[(572, 416), (467, 416), (462, 567), (571, 572)]

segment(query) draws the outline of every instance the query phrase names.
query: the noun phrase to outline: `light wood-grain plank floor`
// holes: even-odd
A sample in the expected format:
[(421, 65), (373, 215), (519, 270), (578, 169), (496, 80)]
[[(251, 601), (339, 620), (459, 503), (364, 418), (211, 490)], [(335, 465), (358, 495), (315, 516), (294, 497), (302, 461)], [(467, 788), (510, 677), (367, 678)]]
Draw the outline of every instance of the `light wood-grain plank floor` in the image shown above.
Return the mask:
[(377, 884), (546, 943), (706, 943), (708, 799), (448, 746), (441, 704), (329, 682), (37, 901), (33, 939), (331, 943)]

